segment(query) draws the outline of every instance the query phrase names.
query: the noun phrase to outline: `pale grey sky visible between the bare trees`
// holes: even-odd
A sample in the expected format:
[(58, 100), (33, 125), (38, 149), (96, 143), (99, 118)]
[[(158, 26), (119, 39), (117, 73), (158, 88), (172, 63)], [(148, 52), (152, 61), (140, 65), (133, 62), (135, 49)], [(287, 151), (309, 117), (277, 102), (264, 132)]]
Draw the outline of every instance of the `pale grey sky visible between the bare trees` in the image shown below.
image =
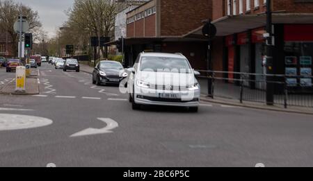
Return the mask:
[(74, 0), (13, 0), (38, 11), (42, 28), (49, 37), (67, 20), (65, 10), (72, 7)]

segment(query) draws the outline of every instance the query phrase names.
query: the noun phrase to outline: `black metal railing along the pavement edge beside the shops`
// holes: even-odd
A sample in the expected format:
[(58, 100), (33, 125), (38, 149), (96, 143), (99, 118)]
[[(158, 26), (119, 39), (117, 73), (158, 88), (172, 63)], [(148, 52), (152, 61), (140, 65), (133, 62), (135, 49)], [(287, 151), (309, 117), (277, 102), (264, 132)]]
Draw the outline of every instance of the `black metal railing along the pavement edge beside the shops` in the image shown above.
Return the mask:
[(271, 83), (274, 86), (274, 104), (286, 108), (288, 105), (313, 107), (313, 76), (198, 71), (201, 74), (198, 78), (202, 94), (211, 98), (218, 96), (238, 100), (240, 103), (266, 103), (266, 85)]

